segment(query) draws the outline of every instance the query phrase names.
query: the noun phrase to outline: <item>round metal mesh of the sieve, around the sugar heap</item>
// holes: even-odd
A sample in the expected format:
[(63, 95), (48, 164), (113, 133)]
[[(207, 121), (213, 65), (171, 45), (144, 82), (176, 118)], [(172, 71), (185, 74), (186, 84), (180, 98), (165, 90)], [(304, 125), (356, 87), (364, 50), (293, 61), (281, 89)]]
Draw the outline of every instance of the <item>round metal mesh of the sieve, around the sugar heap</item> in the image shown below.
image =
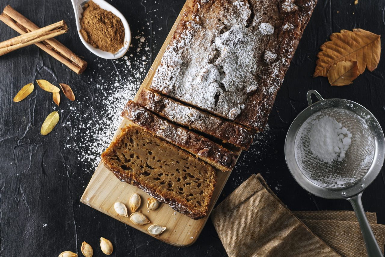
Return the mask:
[[(335, 119), (353, 135), (342, 161), (323, 162), (310, 150), (310, 131), (323, 116)], [(353, 185), (367, 173), (374, 158), (375, 141), (363, 118), (346, 109), (326, 108), (312, 114), (302, 124), (295, 138), (294, 151), (301, 172), (309, 180), (324, 188), (337, 189)]]

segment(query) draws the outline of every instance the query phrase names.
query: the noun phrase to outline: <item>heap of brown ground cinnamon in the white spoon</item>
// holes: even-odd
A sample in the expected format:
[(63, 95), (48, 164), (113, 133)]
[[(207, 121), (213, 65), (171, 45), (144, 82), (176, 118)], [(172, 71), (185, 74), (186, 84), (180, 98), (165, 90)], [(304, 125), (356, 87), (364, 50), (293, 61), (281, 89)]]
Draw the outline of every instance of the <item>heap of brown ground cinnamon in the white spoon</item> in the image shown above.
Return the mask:
[(124, 45), (124, 27), (114, 13), (89, 1), (84, 5), (80, 33), (85, 41), (100, 50), (115, 53)]

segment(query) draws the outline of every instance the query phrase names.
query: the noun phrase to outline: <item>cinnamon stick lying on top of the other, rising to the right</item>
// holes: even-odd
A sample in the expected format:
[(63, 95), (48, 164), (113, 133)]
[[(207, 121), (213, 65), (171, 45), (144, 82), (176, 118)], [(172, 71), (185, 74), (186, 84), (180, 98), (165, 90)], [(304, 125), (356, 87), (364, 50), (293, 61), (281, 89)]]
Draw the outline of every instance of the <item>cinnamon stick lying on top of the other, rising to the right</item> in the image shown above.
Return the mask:
[(67, 31), (67, 24), (65, 24), (64, 20), (62, 20), (41, 29), (33, 30), (18, 37), (5, 40), (0, 42), (0, 56), (27, 45), (32, 45), (52, 37), (56, 37), (57, 35), (64, 34)]

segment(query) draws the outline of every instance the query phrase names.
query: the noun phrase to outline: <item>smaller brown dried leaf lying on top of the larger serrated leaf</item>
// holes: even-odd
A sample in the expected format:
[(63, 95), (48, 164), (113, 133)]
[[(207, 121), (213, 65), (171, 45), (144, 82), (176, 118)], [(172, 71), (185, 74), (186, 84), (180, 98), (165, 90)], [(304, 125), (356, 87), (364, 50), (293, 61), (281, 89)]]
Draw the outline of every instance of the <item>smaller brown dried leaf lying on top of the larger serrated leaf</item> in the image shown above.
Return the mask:
[(360, 75), (358, 73), (357, 61), (342, 61), (330, 67), (328, 80), (331, 86), (345, 86), (352, 84), (353, 80)]

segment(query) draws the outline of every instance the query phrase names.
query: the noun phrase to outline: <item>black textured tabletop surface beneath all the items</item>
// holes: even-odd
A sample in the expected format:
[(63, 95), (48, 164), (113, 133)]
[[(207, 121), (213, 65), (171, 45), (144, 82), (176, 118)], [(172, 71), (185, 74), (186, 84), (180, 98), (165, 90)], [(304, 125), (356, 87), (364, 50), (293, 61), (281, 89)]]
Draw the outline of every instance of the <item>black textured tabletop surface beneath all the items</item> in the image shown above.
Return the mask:
[[(109, 2), (125, 15), (133, 32), (144, 32), (151, 47), (151, 61), (184, 4), (184, 0)], [(326, 78), (311, 77), (319, 47), (331, 33), (362, 28), (385, 35), (385, 0), (360, 0), (358, 5), (353, 2), (319, 1), (276, 98), (268, 129), (256, 138), (250, 151), (242, 153), (219, 201), (252, 173), (260, 172), (291, 210), (352, 210), (346, 200), (313, 197), (298, 186), (286, 168), (283, 146), (291, 121), (306, 107), (305, 96), (310, 89), (318, 90), (325, 98), (346, 98), (362, 104), (385, 127), (383, 53), (378, 68), (365, 71), (350, 86), (332, 87)], [(81, 44), (69, 0), (0, 0), (0, 8), (7, 4), (39, 26), (64, 19), (70, 29), (58, 37), (59, 41), (84, 56), (89, 67), (78, 76), (35, 46), (0, 57), (0, 255), (57, 256), (64, 250), (80, 254), (80, 245), (86, 240), (94, 247), (94, 256), (100, 256), (99, 238), (103, 236), (114, 244), (112, 256), (226, 256), (211, 221), (194, 245), (177, 248), (80, 203), (92, 172), (85, 171), (89, 163), (79, 161), (78, 155), (84, 149), (65, 148), (68, 140), (75, 145), (77, 142), (69, 136), (72, 129), (63, 124), (72, 115), (68, 100), (62, 97), (60, 109), (64, 118), (61, 116), (59, 125), (63, 126), (57, 126), (48, 136), (41, 136), (40, 126), (54, 103), (36, 88), (36, 83), (35, 91), (27, 99), (16, 104), (12, 98), (20, 87), (35, 79), (65, 81), (72, 85), (79, 99), (74, 108), (80, 113), (86, 112), (94, 104), (91, 96), (96, 90), (90, 79), (110, 76), (114, 63), (98, 59)], [(149, 21), (152, 23), (147, 29)], [(0, 24), (0, 40), (16, 35), (5, 24)], [(136, 51), (138, 40), (132, 44), (127, 56)], [(140, 76), (143, 78), (145, 73), (141, 72)], [(130, 71), (124, 74), (134, 75)], [(77, 119), (87, 121), (92, 116), (80, 115)], [(377, 212), (378, 222), (385, 223), (384, 171), (367, 188), (363, 202), (366, 211)]]

